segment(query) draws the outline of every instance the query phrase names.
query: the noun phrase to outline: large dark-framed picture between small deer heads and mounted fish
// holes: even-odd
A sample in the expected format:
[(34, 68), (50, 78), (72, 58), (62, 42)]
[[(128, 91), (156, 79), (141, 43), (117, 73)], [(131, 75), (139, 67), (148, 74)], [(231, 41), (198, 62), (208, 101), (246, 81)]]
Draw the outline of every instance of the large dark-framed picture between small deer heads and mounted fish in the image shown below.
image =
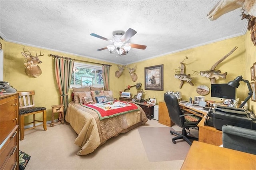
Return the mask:
[(145, 90), (164, 90), (164, 65), (145, 67)]

